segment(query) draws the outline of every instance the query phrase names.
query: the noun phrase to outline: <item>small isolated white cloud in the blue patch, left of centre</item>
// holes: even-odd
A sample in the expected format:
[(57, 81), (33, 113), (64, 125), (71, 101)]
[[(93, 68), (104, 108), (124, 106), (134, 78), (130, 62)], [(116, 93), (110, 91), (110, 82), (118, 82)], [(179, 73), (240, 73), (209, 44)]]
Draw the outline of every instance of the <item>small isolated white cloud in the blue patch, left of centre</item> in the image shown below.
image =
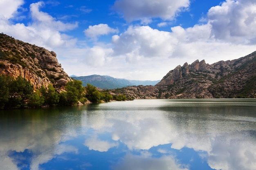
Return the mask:
[(84, 30), (85, 36), (89, 38), (97, 38), (100, 35), (108, 35), (109, 33), (118, 33), (117, 29), (112, 29), (108, 24), (98, 24), (94, 26), (89, 26), (88, 29)]

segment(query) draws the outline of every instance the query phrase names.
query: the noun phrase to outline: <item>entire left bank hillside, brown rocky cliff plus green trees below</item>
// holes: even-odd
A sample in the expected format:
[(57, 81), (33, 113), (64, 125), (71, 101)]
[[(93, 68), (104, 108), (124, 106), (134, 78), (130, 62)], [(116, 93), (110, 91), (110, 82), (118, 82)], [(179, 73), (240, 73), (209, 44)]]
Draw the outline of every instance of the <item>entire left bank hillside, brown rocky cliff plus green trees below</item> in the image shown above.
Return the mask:
[[(128, 98), (70, 78), (56, 53), (0, 34), (0, 109), (70, 106)], [(130, 98), (132, 99), (132, 98)]]

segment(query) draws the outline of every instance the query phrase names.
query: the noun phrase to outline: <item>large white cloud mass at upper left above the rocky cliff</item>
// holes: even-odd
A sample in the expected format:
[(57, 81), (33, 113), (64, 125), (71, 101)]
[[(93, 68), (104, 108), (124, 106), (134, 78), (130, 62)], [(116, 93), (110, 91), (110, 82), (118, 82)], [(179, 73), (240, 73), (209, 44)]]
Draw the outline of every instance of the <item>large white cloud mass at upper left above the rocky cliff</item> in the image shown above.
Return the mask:
[[(10, 4), (9, 1), (8, 3)], [(69, 40), (73, 41), (71, 37), (63, 35), (61, 31), (75, 29), (78, 23), (63, 23), (51, 15), (40, 11), (39, 9), (44, 6), (43, 2), (30, 4), (30, 14), (33, 21), (28, 25), (23, 23), (12, 24), (9, 22), (9, 19), (16, 16), (15, 14), (22, 3), (23, 1), (11, 3), (10, 7), (12, 8), (7, 8), (9, 10), (7, 17), (0, 18), (0, 29), (2, 32), (22, 41), (43, 46), (49, 50), (57, 46), (63, 46)]]

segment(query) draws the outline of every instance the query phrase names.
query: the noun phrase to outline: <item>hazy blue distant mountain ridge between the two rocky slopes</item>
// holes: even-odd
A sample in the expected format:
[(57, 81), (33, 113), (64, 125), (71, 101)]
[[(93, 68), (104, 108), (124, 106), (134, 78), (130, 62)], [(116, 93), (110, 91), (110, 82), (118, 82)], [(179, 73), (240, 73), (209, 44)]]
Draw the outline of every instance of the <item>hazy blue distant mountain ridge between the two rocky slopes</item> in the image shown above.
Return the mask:
[(83, 86), (87, 84), (92, 84), (95, 87), (101, 89), (115, 89), (115, 88), (123, 88), (127, 86), (155, 86), (160, 80), (157, 81), (142, 81), (142, 80), (128, 80), (128, 79), (121, 79), (121, 78), (114, 78), (108, 75), (88, 75), (88, 76), (76, 76), (71, 75), (73, 79), (80, 80), (83, 82)]

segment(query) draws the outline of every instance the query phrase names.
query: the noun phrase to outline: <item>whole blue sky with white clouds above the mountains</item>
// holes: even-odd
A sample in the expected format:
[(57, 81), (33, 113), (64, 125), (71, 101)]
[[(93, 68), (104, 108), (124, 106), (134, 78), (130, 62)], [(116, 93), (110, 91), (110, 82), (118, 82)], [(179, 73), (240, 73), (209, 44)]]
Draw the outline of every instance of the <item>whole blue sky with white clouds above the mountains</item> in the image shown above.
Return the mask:
[(68, 75), (160, 80), (256, 51), (256, 0), (0, 0), (0, 32), (54, 51)]

